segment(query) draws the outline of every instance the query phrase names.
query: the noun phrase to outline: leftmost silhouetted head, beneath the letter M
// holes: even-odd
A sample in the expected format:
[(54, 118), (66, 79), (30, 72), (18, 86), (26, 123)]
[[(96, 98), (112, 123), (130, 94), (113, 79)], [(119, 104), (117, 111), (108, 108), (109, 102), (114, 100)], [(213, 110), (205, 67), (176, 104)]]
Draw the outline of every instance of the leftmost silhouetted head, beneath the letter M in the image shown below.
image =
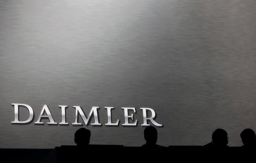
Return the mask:
[(87, 146), (90, 143), (91, 132), (85, 128), (79, 128), (75, 133), (75, 143), (77, 146)]

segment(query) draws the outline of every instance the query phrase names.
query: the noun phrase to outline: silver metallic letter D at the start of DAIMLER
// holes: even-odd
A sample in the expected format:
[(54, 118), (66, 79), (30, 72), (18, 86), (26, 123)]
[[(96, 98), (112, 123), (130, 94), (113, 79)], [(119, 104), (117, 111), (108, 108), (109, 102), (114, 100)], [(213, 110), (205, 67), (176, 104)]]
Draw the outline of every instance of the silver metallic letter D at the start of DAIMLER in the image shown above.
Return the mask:
[[(33, 120), (34, 112), (31, 106), (26, 104), (12, 104), (14, 105), (14, 121), (12, 121), (12, 124), (26, 124)], [(28, 109), (28, 119), (26, 121), (19, 121), (19, 106), (24, 106)]]

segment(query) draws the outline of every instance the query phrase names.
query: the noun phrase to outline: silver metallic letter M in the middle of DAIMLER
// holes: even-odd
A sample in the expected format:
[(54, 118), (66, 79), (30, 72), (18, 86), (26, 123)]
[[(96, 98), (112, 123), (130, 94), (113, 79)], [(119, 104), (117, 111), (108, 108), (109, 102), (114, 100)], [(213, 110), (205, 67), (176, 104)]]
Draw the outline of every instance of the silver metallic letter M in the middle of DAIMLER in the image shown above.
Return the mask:
[(81, 117), (84, 121), (85, 126), (87, 125), (89, 119), (91, 118), (92, 113), (94, 115), (94, 123), (91, 123), (91, 125), (92, 126), (101, 126), (101, 123), (99, 123), (99, 120), (98, 120), (98, 112), (97, 112), (97, 109), (100, 109), (100, 107), (97, 107), (97, 106), (92, 107), (88, 118), (86, 118), (86, 116), (84, 115), (84, 112), (82, 111), (80, 106), (73, 106), (73, 108), (76, 109), (76, 114), (75, 114), (75, 122), (72, 123), (72, 125), (78, 125), (78, 126), (82, 125), (82, 123), (77, 122), (78, 121), (77, 116), (78, 116), (78, 112), (79, 112), (79, 114), (81, 115)]

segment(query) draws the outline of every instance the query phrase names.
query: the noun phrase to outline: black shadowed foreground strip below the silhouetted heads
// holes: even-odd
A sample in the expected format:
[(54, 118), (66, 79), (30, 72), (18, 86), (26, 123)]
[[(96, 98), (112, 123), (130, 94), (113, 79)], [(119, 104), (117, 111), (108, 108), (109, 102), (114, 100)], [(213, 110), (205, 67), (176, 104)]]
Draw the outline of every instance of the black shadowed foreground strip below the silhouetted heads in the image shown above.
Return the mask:
[(249, 161), (255, 149), (229, 147), (205, 149), (203, 146), (169, 146), (157, 148), (119, 145), (61, 146), (54, 149), (0, 149), (3, 163), (76, 163), (87, 161)]

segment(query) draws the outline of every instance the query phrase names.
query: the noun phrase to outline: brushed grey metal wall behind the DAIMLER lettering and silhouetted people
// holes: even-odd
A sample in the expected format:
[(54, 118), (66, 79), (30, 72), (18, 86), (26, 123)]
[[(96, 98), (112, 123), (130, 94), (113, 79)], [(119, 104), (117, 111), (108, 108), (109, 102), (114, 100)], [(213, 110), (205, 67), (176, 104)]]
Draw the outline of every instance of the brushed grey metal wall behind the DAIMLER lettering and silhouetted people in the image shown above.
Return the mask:
[[(216, 128), (241, 146), (256, 130), (255, 0), (0, 0), (0, 148), (72, 145), (74, 105), (135, 107), (137, 127), (94, 127), (91, 144), (141, 146), (156, 111), (158, 144), (203, 145)], [(58, 105), (69, 126), (12, 125), (12, 103)], [(21, 110), (20, 119), (27, 118)], [(47, 120), (43, 120), (47, 122)]]

